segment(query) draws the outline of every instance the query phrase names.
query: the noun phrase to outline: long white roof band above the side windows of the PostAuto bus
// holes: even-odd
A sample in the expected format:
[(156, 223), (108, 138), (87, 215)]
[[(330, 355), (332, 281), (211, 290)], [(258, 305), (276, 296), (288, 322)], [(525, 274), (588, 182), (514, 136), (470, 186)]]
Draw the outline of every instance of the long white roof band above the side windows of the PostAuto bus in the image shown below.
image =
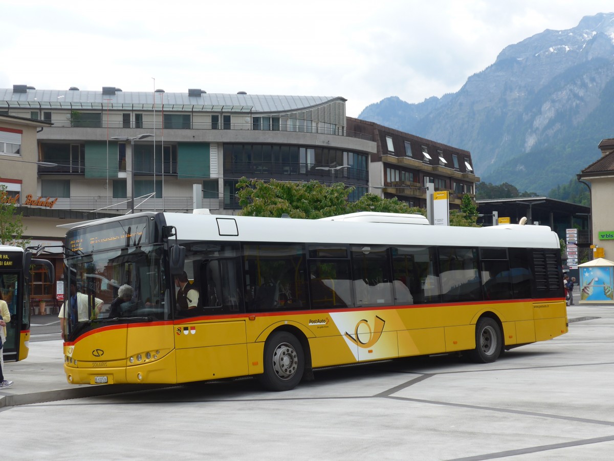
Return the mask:
[(398, 223), (334, 219), (164, 213), (180, 241), (349, 243), (354, 245), (444, 245), (559, 248), (547, 226), (399, 226)]

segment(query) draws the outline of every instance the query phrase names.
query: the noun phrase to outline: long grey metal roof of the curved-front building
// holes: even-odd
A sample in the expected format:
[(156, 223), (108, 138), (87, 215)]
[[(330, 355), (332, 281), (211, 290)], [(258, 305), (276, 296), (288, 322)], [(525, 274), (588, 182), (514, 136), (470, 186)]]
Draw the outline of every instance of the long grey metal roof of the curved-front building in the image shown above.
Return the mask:
[[(25, 85), (23, 85), (25, 86)], [(113, 87), (109, 87), (113, 90)], [(346, 101), (342, 97), (248, 95), (226, 93), (153, 93), (122, 90), (36, 90), (0, 89), (0, 107), (66, 108), (66, 109), (144, 109), (151, 110), (153, 101), (165, 110), (225, 112), (293, 112), (329, 103)]]

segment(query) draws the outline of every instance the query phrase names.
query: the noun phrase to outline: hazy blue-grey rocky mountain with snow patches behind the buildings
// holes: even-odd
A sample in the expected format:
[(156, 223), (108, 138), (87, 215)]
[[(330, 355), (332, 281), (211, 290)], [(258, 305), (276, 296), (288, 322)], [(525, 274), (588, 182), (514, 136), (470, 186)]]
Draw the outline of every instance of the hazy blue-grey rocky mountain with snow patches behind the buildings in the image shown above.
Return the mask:
[(385, 98), (359, 118), (471, 151), (482, 181), (546, 194), (614, 135), (614, 13), (505, 47), (456, 93)]

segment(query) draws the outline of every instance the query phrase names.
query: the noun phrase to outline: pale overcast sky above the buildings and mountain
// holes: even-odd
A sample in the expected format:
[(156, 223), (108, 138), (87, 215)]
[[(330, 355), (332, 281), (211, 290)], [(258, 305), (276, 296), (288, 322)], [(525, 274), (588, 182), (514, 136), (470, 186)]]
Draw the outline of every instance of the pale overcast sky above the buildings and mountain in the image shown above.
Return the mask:
[(0, 0), (0, 87), (341, 96), (356, 117), (389, 96), (456, 92), (505, 46), (612, 10), (612, 0)]

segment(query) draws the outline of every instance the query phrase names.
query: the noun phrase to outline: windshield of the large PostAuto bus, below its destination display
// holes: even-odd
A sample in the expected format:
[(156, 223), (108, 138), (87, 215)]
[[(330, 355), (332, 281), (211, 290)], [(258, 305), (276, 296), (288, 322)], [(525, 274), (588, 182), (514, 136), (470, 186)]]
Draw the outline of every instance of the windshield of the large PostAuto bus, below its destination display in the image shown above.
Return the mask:
[(67, 259), (69, 337), (101, 324), (167, 320), (163, 246), (143, 245)]

